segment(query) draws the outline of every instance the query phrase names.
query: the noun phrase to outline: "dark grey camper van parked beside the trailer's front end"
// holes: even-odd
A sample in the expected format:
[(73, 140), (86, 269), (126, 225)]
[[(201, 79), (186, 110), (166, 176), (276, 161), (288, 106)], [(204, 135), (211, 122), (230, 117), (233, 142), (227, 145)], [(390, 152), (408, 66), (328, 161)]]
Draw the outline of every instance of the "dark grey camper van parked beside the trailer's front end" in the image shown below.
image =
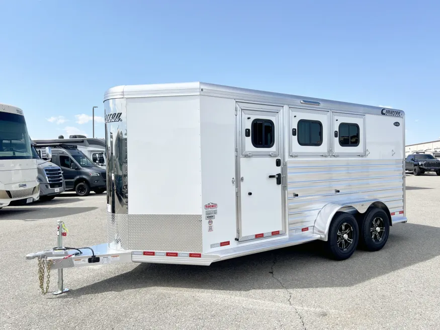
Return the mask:
[[(47, 144), (43, 143), (43, 146)], [(37, 143), (37, 150), (42, 149)], [(52, 144), (52, 162), (62, 170), (66, 190), (74, 190), (78, 196), (87, 196), (91, 191), (102, 194), (106, 191), (106, 170), (97, 166), (79, 151), (76, 145)]]

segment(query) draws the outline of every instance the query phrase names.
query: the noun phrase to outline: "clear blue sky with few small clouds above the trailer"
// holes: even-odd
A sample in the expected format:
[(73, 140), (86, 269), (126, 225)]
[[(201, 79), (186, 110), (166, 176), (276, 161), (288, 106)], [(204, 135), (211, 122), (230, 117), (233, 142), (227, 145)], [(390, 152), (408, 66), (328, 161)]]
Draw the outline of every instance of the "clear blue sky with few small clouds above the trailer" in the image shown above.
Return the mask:
[[(439, 2), (2, 1), (0, 103), (32, 138), (104, 137), (113, 86), (205, 81), (406, 112), (440, 137)], [(436, 97), (437, 96), (437, 97)]]

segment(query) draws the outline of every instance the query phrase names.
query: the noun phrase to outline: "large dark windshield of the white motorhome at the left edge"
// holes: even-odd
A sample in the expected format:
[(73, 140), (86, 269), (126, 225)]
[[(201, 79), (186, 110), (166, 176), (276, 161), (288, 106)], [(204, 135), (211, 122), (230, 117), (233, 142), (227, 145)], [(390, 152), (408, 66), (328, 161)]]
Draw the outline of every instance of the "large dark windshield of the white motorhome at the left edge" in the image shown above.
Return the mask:
[(25, 117), (0, 112), (0, 159), (31, 159), (31, 142)]

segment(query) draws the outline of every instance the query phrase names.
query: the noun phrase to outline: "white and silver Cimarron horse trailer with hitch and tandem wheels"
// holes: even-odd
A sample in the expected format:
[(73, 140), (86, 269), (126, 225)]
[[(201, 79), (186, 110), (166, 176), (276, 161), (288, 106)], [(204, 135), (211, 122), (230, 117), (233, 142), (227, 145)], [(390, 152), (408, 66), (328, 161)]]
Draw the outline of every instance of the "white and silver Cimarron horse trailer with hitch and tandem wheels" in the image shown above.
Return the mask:
[(343, 260), (407, 221), (403, 111), (201, 82), (104, 104), (108, 242), (27, 259), (210, 265), (323, 240)]

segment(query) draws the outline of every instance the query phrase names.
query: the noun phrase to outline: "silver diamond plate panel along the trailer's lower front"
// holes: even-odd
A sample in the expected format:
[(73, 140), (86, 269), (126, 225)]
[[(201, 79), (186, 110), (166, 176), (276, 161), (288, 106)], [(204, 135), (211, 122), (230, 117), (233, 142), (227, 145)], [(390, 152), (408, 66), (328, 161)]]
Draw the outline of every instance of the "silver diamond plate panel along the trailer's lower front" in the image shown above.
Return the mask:
[(108, 242), (124, 250), (202, 252), (200, 214), (111, 214)]

